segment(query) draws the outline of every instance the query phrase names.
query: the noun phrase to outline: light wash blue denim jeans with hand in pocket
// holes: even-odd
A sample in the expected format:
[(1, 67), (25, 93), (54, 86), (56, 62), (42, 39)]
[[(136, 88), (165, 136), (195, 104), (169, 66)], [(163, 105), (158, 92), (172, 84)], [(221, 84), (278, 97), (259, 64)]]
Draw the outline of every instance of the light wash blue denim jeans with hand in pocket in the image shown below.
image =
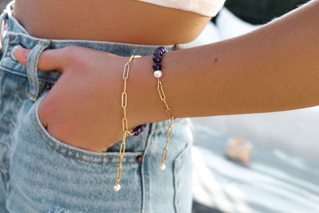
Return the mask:
[[(158, 46), (38, 39), (12, 17), (10, 8), (1, 19), (8, 30), (0, 61), (0, 212), (190, 212), (189, 119), (174, 122), (165, 171), (158, 166), (169, 121), (147, 124), (140, 135), (129, 136), (122, 188), (115, 192), (121, 142), (104, 153), (76, 148), (52, 137), (38, 116), (47, 86), (61, 75), (37, 71), (44, 49), (76, 45), (131, 56), (151, 55)], [(28, 67), (15, 60), (12, 49), (17, 45), (32, 49)], [(174, 45), (166, 48), (172, 50)]]

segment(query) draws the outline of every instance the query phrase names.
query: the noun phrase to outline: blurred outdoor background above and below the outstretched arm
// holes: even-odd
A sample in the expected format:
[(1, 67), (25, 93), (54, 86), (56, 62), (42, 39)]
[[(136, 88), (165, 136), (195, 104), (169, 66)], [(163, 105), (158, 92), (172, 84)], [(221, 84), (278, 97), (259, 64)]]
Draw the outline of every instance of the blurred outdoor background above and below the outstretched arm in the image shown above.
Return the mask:
[[(247, 33), (304, 3), (226, 0), (193, 46)], [(319, 212), (319, 107), (191, 121), (193, 213)]]

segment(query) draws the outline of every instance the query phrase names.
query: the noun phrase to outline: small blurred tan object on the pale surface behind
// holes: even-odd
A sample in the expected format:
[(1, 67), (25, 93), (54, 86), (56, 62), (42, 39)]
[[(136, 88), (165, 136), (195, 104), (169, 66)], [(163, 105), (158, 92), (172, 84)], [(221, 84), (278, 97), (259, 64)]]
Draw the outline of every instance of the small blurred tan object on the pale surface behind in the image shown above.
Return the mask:
[(226, 155), (232, 160), (250, 165), (251, 150), (252, 144), (246, 139), (232, 137), (227, 141)]

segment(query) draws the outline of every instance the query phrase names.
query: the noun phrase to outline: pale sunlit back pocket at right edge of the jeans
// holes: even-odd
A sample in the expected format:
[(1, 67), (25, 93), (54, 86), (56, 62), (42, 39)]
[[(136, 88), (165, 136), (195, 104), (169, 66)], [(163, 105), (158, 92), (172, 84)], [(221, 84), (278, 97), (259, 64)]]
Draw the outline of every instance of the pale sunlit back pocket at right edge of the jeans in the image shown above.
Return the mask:
[(192, 206), (192, 143), (189, 143), (182, 153), (174, 160), (174, 187), (176, 213), (187, 213)]

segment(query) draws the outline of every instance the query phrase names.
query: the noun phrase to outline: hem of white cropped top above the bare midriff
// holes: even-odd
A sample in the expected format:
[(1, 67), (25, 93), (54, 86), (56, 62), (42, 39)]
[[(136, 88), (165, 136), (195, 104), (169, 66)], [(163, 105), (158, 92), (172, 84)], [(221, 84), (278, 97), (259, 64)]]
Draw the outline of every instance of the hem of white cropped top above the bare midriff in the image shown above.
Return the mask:
[(222, 8), (225, 0), (137, 0), (156, 4), (163, 7), (170, 7), (184, 11), (196, 12), (204, 16), (214, 17)]

